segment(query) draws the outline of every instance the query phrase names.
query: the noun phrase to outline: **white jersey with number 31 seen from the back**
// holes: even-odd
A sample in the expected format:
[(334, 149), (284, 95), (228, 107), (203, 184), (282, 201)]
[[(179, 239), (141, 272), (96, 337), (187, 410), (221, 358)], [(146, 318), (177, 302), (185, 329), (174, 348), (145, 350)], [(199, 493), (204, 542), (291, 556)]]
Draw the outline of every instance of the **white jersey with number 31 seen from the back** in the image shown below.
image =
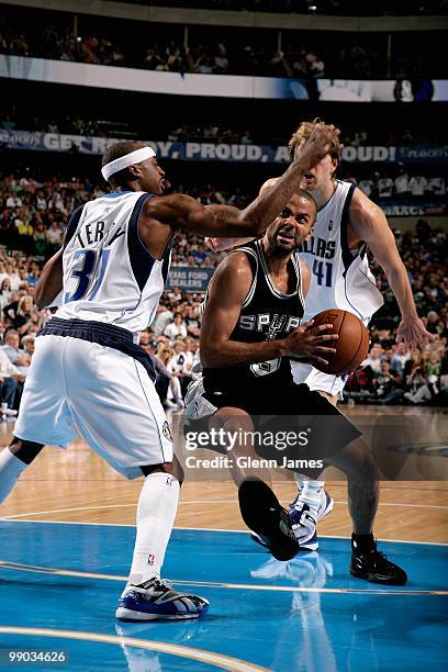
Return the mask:
[(63, 256), (63, 320), (93, 320), (134, 334), (153, 322), (168, 275), (170, 249), (154, 259), (138, 235), (143, 191), (110, 193), (78, 208)]

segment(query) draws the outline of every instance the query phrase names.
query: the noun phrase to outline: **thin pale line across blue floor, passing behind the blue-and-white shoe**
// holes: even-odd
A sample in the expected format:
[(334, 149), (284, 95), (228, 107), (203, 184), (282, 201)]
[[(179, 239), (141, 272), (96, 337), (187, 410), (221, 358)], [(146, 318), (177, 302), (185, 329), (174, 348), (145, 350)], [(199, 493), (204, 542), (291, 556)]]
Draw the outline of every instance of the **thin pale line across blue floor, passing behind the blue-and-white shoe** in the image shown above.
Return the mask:
[[(32, 572), (37, 574), (52, 574), (56, 576), (77, 576), (80, 579), (96, 579), (103, 581), (127, 581), (127, 576), (119, 574), (99, 574), (96, 572), (77, 572), (53, 567), (40, 567), (37, 564), (25, 564), (22, 562), (10, 562), (0, 560), (1, 569), (15, 570), (20, 572)], [(441, 596), (448, 595), (448, 591), (407, 591), (407, 590), (382, 590), (382, 589), (327, 589), (299, 585), (258, 585), (254, 583), (224, 583), (219, 581), (186, 581), (183, 579), (168, 579), (171, 583), (179, 585), (198, 585), (202, 587), (226, 589), (233, 591), (269, 591), (275, 593), (328, 593), (328, 594), (369, 594), (369, 595), (406, 595), (406, 596)]]

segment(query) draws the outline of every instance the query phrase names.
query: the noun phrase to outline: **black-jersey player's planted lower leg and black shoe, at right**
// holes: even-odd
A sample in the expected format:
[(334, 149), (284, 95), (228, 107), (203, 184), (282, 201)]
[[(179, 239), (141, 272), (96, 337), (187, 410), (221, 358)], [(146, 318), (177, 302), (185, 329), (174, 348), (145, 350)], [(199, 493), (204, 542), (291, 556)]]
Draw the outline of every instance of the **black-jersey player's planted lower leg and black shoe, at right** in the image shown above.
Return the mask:
[(373, 583), (404, 585), (407, 575), (378, 551), (373, 522), (379, 502), (378, 471), (367, 444), (358, 438), (334, 456), (327, 464), (347, 475), (348, 507), (354, 524), (350, 573)]

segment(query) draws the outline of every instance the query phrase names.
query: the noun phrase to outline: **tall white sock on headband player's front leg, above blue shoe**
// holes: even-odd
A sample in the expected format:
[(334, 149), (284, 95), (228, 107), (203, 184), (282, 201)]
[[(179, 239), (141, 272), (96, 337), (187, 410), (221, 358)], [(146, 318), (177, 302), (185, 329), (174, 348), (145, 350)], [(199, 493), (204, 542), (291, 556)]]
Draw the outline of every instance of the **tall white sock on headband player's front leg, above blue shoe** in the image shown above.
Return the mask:
[(160, 576), (179, 491), (179, 481), (169, 473), (157, 471), (145, 478), (138, 499), (137, 535), (128, 583), (138, 585)]

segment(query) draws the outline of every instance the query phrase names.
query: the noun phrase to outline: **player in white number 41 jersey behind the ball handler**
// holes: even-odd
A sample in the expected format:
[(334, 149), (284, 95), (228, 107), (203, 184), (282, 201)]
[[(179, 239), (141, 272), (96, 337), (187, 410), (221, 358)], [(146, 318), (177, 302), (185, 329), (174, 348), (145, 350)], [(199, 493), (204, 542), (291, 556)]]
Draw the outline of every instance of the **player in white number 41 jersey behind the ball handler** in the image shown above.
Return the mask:
[[(292, 135), (289, 148), (291, 159), (301, 144), (315, 132), (318, 120), (304, 122)], [(310, 291), (305, 302), (304, 320), (321, 311), (341, 309), (360, 317), (366, 324), (382, 305), (367, 260), (367, 248), (381, 265), (395, 295), (401, 313), (396, 340), (410, 346), (432, 338), (417, 311), (406, 268), (400, 258), (395, 239), (382, 210), (351, 182), (336, 179), (341, 145), (339, 137), (332, 138), (328, 154), (304, 176), (301, 187), (317, 203), (317, 219), (310, 242), (300, 257), (311, 270)], [(260, 193), (269, 191), (278, 178), (265, 182)], [(247, 239), (211, 240), (214, 249), (226, 249)], [(336, 404), (346, 379), (318, 371), (311, 365), (291, 362), (294, 382), (305, 382), (311, 390), (321, 392)], [(299, 496), (291, 505), (290, 517), (301, 547), (316, 550), (318, 541), (315, 522), (329, 513), (333, 500), (324, 491), (324, 481), (298, 479)], [(305, 514), (305, 515), (303, 515)]]

